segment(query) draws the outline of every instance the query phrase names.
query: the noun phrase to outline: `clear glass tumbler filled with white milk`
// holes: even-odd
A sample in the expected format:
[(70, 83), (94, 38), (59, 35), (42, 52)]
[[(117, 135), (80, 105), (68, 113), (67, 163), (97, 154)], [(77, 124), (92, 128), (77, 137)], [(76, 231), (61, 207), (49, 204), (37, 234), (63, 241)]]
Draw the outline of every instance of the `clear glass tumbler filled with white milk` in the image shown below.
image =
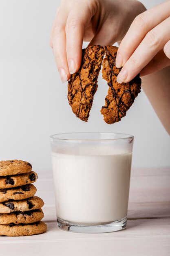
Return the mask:
[(133, 139), (108, 132), (50, 137), (60, 229), (103, 233), (126, 227)]

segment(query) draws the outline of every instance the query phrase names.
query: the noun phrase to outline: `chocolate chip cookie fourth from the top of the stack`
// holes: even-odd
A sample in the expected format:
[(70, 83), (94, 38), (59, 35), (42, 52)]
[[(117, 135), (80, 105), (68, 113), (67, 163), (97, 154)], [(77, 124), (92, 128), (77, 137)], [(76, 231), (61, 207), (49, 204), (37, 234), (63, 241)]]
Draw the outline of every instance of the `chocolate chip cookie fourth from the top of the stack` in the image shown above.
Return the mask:
[(11, 213), (14, 211), (30, 211), (43, 207), (44, 202), (38, 196), (26, 198), (23, 200), (9, 200), (0, 203), (0, 213)]

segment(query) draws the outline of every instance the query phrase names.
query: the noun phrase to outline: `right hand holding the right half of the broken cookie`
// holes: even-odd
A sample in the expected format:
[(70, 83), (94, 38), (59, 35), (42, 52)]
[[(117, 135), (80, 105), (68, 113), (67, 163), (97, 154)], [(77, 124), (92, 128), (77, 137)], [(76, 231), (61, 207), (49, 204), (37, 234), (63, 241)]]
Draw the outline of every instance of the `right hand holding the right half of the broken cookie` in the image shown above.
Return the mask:
[(170, 1), (139, 14), (117, 51), (122, 67), (117, 82), (129, 82), (139, 72), (150, 74), (170, 65)]

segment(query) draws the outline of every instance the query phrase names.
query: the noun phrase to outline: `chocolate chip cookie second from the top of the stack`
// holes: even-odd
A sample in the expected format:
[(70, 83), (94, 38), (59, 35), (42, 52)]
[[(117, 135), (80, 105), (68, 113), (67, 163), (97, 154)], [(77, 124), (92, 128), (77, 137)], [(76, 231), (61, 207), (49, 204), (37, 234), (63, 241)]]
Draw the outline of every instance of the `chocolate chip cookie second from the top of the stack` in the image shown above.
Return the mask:
[(35, 182), (37, 178), (37, 173), (33, 171), (17, 175), (2, 176), (0, 177), (0, 189), (8, 189), (16, 186), (30, 184)]

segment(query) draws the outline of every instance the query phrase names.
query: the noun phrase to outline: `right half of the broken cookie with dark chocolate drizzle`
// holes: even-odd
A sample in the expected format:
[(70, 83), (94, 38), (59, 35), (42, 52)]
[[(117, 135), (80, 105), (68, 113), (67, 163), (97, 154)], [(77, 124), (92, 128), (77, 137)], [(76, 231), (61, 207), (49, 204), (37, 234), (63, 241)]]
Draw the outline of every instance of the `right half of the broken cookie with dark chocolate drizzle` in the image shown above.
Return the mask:
[(105, 46), (106, 56), (103, 60), (102, 77), (108, 82), (109, 89), (101, 113), (107, 124), (120, 121), (141, 90), (139, 74), (129, 83), (117, 83), (117, 75), (121, 70), (115, 66), (117, 49), (116, 46)]

